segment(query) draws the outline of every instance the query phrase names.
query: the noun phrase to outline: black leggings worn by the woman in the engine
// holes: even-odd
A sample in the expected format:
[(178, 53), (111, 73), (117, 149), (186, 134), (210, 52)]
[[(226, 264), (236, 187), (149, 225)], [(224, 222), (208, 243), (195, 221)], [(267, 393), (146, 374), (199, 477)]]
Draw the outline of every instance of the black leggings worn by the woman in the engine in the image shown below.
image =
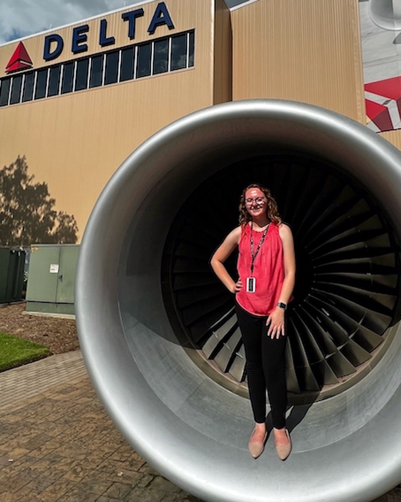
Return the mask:
[(273, 427), (285, 427), (287, 387), (284, 351), (286, 336), (267, 335), (267, 317), (255, 316), (236, 305), (247, 358), (248, 387), (255, 422), (266, 420), (266, 389), (272, 409)]

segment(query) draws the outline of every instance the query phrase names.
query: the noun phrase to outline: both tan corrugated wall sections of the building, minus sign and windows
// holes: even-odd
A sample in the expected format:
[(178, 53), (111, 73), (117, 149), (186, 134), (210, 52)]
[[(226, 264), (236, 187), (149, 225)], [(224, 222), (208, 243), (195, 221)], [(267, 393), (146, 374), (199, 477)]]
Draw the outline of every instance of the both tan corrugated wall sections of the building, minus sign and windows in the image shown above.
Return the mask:
[[(93, 205), (115, 169), (146, 138), (173, 120), (233, 98), (274, 97), (317, 104), (365, 123), (357, 0), (258, 0), (229, 13), (223, 0), (168, 0), (175, 29), (146, 29), (157, 0), (143, 5), (132, 43), (195, 29), (195, 66), (97, 89), (0, 108), (0, 166), (26, 155), (29, 174), (46, 182), (56, 209), (73, 214), (82, 236)], [(88, 53), (130, 43), (121, 12), (88, 22)], [(100, 19), (116, 45), (101, 49)], [(74, 26), (81, 26), (85, 22)], [(72, 59), (73, 27), (61, 60)], [(26, 39), (34, 67), (45, 35)], [(216, 37), (216, 44), (214, 42)], [(17, 43), (0, 47), (4, 70)], [(401, 149), (401, 131), (382, 133)]]

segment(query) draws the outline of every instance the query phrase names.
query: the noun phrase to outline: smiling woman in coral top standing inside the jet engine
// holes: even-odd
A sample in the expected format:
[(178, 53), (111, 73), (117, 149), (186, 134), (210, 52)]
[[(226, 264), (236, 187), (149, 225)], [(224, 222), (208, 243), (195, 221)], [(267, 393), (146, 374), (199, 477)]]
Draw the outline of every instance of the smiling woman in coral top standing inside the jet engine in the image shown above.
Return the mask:
[[(237, 282), (224, 262), (239, 246)], [(230, 232), (212, 257), (218, 278), (236, 295), (255, 429), (249, 440), (254, 458), (267, 439), (266, 389), (272, 410), (277, 455), (285, 460), (291, 439), (285, 427), (287, 389), (284, 367), (285, 311), (295, 284), (295, 253), (290, 228), (281, 222), (270, 190), (258, 184), (244, 189), (240, 226)]]

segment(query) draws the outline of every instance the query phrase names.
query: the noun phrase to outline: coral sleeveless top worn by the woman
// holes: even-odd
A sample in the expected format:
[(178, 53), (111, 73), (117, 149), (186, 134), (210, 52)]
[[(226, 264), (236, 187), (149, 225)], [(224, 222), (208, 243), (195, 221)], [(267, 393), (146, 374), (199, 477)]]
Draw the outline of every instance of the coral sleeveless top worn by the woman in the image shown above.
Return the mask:
[[(263, 232), (252, 230), (252, 235), (255, 254)], [(255, 258), (253, 274), (251, 274), (251, 224), (247, 224), (242, 231), (238, 248), (237, 270), (243, 287), (236, 295), (237, 303), (251, 314), (268, 316), (277, 306), (284, 281), (283, 243), (278, 225), (270, 223), (265, 240)], [(246, 288), (247, 277), (251, 276), (256, 279), (255, 293), (248, 293)]]

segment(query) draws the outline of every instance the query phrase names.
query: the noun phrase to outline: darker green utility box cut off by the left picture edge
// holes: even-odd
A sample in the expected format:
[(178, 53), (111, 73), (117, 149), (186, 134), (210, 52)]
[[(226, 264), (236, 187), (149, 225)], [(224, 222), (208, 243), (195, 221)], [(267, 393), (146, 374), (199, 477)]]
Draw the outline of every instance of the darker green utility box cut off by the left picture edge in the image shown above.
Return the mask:
[(0, 247), (0, 303), (23, 299), (25, 250)]

